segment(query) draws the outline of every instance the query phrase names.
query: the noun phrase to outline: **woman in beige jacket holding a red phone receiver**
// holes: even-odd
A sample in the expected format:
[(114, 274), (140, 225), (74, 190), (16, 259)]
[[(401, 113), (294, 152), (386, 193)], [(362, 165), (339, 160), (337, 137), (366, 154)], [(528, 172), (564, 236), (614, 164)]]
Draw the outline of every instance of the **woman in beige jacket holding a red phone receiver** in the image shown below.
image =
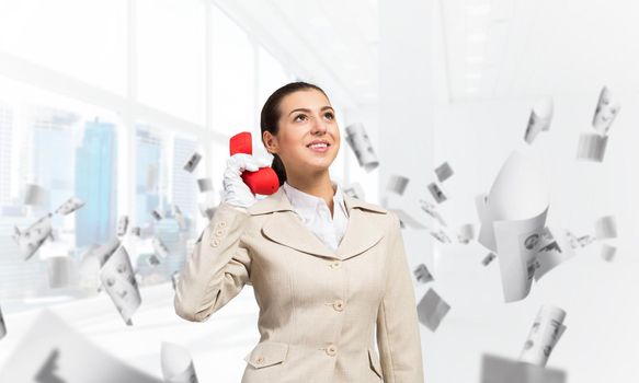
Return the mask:
[(240, 174), (266, 164), (248, 154), (228, 160), (224, 200), (181, 272), (175, 312), (206, 321), (253, 286), (261, 337), (242, 383), (422, 383), (399, 219), (331, 181), (340, 130), (327, 95), (289, 83), (261, 117), (281, 187), (255, 200)]

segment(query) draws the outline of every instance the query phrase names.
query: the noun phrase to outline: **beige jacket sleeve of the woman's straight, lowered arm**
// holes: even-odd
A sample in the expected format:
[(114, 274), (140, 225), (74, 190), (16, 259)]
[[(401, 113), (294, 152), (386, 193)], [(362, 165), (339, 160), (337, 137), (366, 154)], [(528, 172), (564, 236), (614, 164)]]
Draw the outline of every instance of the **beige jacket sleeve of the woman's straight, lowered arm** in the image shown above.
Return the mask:
[(386, 290), (377, 311), (377, 346), (386, 383), (423, 383), (415, 294), (399, 218), (391, 216)]

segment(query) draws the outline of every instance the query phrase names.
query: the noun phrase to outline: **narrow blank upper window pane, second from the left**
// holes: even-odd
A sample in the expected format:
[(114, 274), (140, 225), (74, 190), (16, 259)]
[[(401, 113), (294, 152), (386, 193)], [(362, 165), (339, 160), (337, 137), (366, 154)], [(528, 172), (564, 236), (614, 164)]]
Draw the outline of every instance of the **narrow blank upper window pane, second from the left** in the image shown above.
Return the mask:
[(138, 98), (204, 124), (205, 7), (202, 0), (137, 0)]

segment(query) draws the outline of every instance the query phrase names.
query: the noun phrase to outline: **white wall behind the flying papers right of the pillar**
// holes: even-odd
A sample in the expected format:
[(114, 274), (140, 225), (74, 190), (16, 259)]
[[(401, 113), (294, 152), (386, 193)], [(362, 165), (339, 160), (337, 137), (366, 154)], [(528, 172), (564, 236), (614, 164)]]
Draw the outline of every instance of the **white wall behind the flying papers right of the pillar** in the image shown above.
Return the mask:
[[(448, 161), (455, 175), (446, 182), (450, 199), (441, 206), (449, 224), (477, 223), (473, 196), (488, 192), (505, 158), (528, 150), (543, 163), (550, 187), (549, 221), (575, 234), (594, 234), (594, 220), (615, 214), (617, 257), (608, 264), (601, 243), (550, 271), (530, 295), (505, 304), (498, 262), (482, 267), (481, 245), (436, 245), (431, 270), (434, 288), (452, 305), (436, 334), (429, 336), (426, 381), (478, 382), (483, 351), (516, 359), (541, 304), (568, 313), (568, 329), (552, 351), (549, 367), (567, 370), (569, 382), (634, 382), (639, 380), (639, 162), (638, 94), (617, 94), (623, 106), (611, 129), (603, 163), (575, 161), (580, 132), (594, 132), (592, 115), (600, 84), (589, 94), (555, 95), (555, 118), (530, 148), (523, 141), (536, 98), (497, 100), (435, 108), (435, 165)], [(613, 89), (614, 92), (614, 89)]]

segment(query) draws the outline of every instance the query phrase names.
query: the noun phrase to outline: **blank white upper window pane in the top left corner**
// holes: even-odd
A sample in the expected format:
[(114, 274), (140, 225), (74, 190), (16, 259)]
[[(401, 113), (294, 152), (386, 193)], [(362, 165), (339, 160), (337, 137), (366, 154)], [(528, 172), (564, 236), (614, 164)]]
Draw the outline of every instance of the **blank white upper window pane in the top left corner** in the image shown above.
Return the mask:
[(0, 2), (0, 51), (124, 95), (127, 0)]

